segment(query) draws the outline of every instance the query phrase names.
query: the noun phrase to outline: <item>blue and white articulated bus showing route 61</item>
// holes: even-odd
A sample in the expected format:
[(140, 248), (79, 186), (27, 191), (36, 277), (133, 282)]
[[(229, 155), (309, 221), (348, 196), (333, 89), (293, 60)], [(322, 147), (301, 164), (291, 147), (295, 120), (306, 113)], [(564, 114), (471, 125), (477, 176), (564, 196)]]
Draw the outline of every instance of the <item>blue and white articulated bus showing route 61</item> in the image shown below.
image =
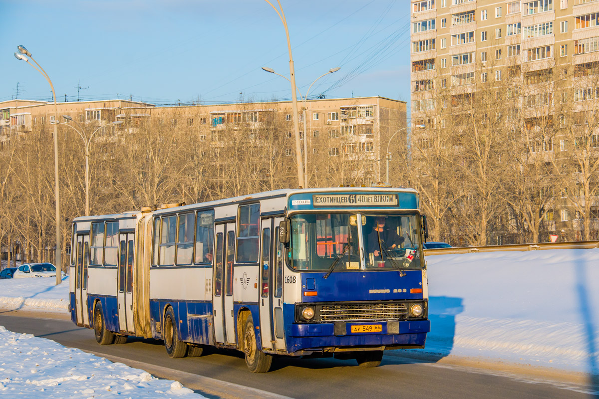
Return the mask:
[(75, 218), (72, 321), (100, 345), (164, 340), (171, 358), (206, 346), (379, 366), (423, 348), (426, 219), (410, 188), (277, 190)]

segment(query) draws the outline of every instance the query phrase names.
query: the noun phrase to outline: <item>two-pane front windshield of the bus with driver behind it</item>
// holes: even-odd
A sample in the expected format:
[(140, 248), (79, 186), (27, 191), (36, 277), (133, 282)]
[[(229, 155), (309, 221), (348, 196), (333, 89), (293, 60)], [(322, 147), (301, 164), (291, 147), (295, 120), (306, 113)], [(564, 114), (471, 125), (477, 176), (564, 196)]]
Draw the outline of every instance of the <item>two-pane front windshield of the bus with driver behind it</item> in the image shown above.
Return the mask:
[(326, 271), (333, 263), (333, 271), (419, 269), (419, 221), (418, 214), (295, 215), (291, 218), (290, 266), (314, 271)]

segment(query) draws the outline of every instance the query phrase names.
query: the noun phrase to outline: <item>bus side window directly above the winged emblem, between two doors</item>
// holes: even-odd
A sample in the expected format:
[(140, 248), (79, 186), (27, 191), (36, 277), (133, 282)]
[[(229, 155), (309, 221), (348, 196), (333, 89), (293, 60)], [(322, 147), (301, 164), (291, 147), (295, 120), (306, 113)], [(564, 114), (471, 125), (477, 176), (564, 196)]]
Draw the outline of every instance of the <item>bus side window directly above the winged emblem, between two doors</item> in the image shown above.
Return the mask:
[(260, 204), (242, 205), (237, 218), (237, 262), (258, 261)]

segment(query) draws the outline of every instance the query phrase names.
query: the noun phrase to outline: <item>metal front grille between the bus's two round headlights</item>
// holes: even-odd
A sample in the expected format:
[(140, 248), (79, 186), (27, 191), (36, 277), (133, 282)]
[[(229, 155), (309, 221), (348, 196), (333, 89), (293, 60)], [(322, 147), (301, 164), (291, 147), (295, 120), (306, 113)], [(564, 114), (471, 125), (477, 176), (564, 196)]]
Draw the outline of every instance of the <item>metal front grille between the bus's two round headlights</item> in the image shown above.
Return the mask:
[(323, 304), (319, 306), (320, 321), (352, 321), (405, 319), (408, 309), (406, 303), (351, 303)]

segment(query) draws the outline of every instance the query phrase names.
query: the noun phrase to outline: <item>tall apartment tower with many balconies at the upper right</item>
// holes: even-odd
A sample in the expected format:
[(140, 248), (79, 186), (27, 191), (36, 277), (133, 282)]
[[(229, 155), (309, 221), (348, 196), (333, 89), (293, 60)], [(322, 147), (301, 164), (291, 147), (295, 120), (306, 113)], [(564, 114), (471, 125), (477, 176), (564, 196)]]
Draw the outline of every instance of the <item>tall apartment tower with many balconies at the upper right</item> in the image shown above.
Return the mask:
[[(512, 100), (499, 94), (497, 99), (523, 131), (535, 129), (542, 117), (560, 120), (562, 127), (576, 124), (564, 118), (565, 104), (581, 115), (599, 108), (598, 0), (412, 0), (411, 7), (414, 123), (443, 123), (438, 115), (459, 112), (461, 100), (476, 101), (484, 84), (498, 87), (507, 80)], [(591, 130), (591, 148), (599, 150), (595, 124), (586, 121), (585, 129)], [(561, 134), (540, 145), (551, 153), (547, 157), (570, 157), (568, 150), (580, 145), (580, 139)], [(569, 238), (580, 239), (580, 211), (562, 197), (550, 213), (551, 229), (570, 229)], [(594, 235), (598, 198), (586, 199)]]

